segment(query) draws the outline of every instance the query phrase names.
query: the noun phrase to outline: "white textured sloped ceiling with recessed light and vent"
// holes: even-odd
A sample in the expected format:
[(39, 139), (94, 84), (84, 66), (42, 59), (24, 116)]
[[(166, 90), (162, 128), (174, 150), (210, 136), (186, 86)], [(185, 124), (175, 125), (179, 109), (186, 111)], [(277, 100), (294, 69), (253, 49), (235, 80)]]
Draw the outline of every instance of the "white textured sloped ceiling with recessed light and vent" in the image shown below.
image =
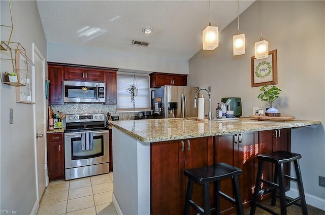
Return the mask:
[[(254, 1), (239, 1), (242, 13)], [(202, 49), (209, 1), (37, 1), (47, 42), (189, 59)], [(211, 1), (221, 31), (237, 18), (237, 1)], [(150, 34), (142, 28), (151, 26)], [(89, 29), (96, 34), (83, 34)], [(234, 32), (234, 34), (237, 32)], [(132, 41), (149, 42), (148, 47)]]

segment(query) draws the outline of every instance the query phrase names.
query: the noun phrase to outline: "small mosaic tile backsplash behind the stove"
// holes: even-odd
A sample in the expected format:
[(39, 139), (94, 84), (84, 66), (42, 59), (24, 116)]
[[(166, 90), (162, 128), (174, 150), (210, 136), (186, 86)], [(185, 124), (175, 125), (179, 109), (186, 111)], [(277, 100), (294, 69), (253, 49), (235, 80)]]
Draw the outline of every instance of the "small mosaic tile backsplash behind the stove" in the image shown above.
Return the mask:
[(116, 105), (92, 104), (92, 103), (66, 103), (64, 105), (50, 105), (54, 113), (64, 112), (64, 114), (98, 114), (111, 113), (111, 116), (119, 116), (120, 120), (132, 120), (135, 113), (116, 113)]

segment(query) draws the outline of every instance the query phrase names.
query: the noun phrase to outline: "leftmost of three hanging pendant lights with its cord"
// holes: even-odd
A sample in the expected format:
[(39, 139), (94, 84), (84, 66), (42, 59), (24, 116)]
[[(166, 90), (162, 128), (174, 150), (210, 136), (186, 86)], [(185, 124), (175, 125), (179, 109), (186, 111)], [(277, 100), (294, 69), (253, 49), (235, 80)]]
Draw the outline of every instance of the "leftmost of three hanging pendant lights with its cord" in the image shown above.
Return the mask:
[(214, 50), (219, 46), (218, 27), (211, 26), (211, 0), (209, 0), (209, 25), (203, 30), (203, 50)]

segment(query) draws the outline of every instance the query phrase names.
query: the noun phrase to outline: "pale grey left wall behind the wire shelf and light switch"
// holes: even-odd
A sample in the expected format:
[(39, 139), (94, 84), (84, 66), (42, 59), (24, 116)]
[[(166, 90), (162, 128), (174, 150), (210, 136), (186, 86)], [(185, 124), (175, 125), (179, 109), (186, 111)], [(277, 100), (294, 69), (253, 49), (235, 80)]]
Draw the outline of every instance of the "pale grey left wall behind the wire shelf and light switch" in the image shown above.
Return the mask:
[[(1, 3), (1, 23), (8, 21), (8, 1)], [(7, 5), (7, 7), (6, 7)], [(46, 53), (46, 40), (35, 1), (11, 1), (13, 16), (12, 42), (19, 42), (31, 59), (32, 43)], [(8, 38), (1, 38), (8, 40)], [(5, 51), (1, 50), (2, 56)], [(3, 62), (3, 61), (2, 61)], [(12, 71), (1, 63), (1, 72)], [(37, 91), (37, 89), (36, 89)], [(0, 86), (0, 210), (30, 214), (36, 203), (33, 105), (16, 102), (16, 88)], [(14, 124), (9, 124), (9, 109), (14, 112)]]

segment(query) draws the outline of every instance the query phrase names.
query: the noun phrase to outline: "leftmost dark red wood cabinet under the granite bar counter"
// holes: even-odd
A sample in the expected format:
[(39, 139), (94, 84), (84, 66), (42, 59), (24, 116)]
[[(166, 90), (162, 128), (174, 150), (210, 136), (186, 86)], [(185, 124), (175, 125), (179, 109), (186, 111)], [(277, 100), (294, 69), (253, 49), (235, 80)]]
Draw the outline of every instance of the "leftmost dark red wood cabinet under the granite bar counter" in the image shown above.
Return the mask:
[[(182, 214), (187, 180), (185, 168), (213, 164), (213, 137), (156, 142), (150, 145), (151, 214)], [(202, 187), (192, 199), (202, 201)]]

